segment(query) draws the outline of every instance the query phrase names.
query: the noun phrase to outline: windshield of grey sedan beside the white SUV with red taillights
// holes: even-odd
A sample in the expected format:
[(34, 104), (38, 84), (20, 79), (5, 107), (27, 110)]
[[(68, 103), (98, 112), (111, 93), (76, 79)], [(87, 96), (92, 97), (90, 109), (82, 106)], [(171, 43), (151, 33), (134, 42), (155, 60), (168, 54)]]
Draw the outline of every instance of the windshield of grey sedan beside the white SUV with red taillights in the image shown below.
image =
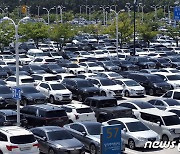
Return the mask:
[(51, 141), (68, 140), (73, 138), (73, 136), (65, 130), (47, 132), (47, 135)]

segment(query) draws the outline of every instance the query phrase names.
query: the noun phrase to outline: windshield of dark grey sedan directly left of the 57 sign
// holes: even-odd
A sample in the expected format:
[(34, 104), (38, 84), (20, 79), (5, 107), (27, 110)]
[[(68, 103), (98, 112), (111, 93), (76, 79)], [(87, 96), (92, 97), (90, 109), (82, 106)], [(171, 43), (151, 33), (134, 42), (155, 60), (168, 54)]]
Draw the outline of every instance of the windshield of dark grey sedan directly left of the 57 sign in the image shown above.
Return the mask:
[(90, 124), (86, 126), (86, 129), (90, 135), (100, 135), (101, 134), (101, 126), (102, 124)]

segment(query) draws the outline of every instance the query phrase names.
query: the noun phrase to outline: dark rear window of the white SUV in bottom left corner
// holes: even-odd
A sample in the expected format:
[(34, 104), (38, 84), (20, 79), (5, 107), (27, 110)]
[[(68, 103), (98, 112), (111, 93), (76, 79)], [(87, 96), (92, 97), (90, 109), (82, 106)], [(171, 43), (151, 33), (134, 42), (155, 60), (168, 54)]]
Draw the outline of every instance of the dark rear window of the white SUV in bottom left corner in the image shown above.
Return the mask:
[(20, 135), (10, 137), (10, 142), (14, 144), (27, 144), (35, 142), (33, 135)]

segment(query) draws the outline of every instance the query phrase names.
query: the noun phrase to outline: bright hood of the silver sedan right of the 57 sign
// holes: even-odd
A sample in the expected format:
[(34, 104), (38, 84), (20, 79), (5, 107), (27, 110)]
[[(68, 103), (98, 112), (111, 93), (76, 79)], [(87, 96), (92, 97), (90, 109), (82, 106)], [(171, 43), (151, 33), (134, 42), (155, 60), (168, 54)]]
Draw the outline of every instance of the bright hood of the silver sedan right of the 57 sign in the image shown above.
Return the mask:
[(139, 131), (139, 132), (129, 132), (130, 135), (134, 136), (135, 138), (142, 137), (142, 138), (156, 138), (158, 134), (153, 130), (147, 131)]

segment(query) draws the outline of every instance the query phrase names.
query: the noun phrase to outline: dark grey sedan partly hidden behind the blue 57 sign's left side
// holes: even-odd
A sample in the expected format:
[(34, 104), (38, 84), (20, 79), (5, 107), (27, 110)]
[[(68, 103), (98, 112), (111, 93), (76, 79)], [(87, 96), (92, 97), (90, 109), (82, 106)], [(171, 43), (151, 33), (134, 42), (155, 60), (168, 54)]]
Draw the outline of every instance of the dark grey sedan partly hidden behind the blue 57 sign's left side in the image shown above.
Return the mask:
[[(74, 137), (80, 140), (90, 154), (100, 153), (100, 134), (103, 125), (99, 122), (75, 122), (64, 125)], [(125, 150), (124, 142), (122, 142), (121, 150)]]

